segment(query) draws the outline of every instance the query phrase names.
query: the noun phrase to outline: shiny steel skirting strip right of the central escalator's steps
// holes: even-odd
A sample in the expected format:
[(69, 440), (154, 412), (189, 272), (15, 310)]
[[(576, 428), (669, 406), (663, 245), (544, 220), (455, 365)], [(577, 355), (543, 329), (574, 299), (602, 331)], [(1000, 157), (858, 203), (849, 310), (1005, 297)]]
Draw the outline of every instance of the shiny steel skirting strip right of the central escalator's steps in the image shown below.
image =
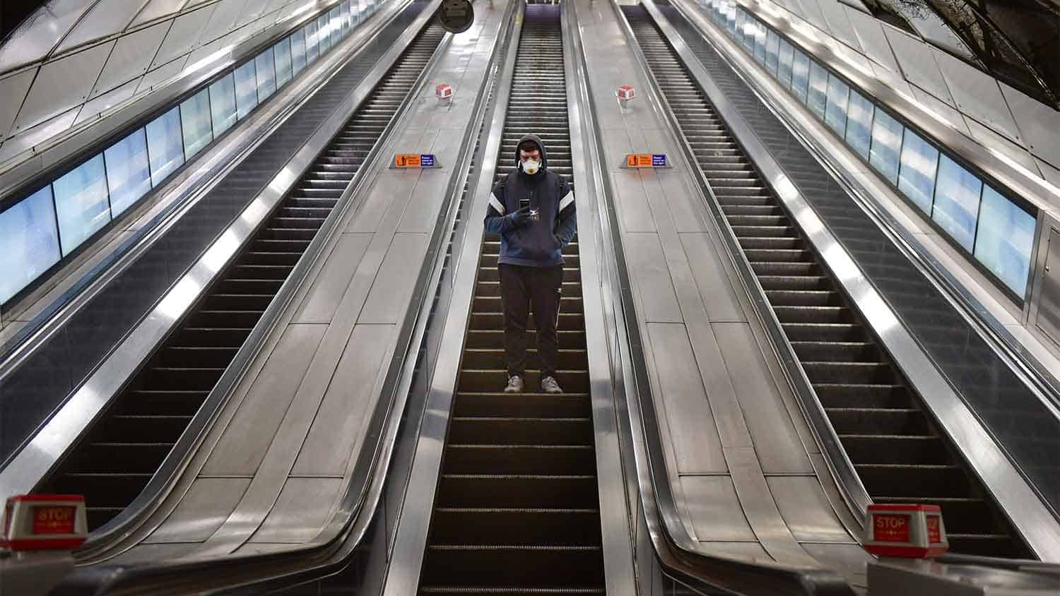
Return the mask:
[(616, 408), (617, 387), (612, 380), (612, 357), (605, 331), (603, 305), (604, 236), (600, 221), (603, 179), (593, 116), (593, 95), (585, 72), (584, 39), (578, 26), (577, 3), (564, 2), (560, 22), (563, 28), (565, 70), (572, 85), (567, 86), (567, 118), (570, 123), (570, 155), (578, 216), (578, 263), (582, 281), (582, 307), (585, 319), (585, 344), (588, 353), (589, 397), (593, 403), (593, 429), (596, 441), (597, 491), (600, 495), (600, 524), (603, 541), (605, 588), (611, 596), (635, 595), (633, 530), (636, 508), (626, 500), (619, 422)]

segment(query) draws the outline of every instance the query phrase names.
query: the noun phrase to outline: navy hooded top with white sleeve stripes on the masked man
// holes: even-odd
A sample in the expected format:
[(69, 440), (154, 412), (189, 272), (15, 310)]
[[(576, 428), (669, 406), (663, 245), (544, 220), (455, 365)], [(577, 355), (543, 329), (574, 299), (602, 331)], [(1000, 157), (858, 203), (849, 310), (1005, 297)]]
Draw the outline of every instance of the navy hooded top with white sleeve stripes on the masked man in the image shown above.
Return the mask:
[[(541, 148), (541, 169), (523, 171), (519, 145), (532, 141)], [(537, 221), (516, 219), (515, 213), (529, 204), (537, 210)], [(548, 169), (545, 145), (535, 134), (527, 134), (515, 145), (515, 168), (497, 182), (485, 210), (485, 231), (500, 234), (499, 263), (524, 267), (554, 267), (563, 264), (563, 247), (578, 231), (575, 216), (575, 187)]]

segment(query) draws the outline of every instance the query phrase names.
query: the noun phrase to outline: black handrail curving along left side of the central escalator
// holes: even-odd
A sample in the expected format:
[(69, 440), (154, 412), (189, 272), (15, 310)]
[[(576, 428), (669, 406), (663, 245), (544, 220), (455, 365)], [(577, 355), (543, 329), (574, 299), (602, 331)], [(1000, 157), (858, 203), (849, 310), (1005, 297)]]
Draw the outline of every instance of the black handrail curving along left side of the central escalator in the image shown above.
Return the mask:
[[(437, 4), (436, 2), (432, 3)], [(407, 381), (419, 363), (421, 342), (424, 340), (423, 327), (431, 308), (431, 297), (441, 277), (445, 263), (446, 245), (449, 231), (457, 217), (458, 192), (471, 167), (472, 151), (475, 148), (475, 137), (478, 124), (485, 111), (488, 93), (496, 77), (498, 56), (502, 56), (502, 48), (507, 48), (510, 35), (510, 24), (514, 21), (515, 6), (511, 2), (504, 17), (501, 37), (494, 44), (494, 54), (487, 72), (491, 76), (483, 78), (473, 107), (475, 114), (465, 130), (463, 149), (458, 157), (454, 173), (445, 196), (449, 198), (440, 210), (435, 231), (428, 243), (428, 257), (424, 259), (417, 282), (412, 300), (403, 322), (398, 339), (394, 358), (388, 366), (383, 384), (381, 399), (372, 412), (367, 437), (375, 437), (374, 441), (366, 441), (361, 447), (353, 472), (353, 480), (343, 493), (337, 513), (328, 527), (307, 546), (285, 553), (255, 554), (248, 556), (230, 556), (210, 561), (189, 561), (177, 563), (147, 563), (128, 565), (95, 565), (77, 570), (69, 576), (53, 595), (64, 594), (141, 594), (151, 591), (190, 591), (217, 592), (227, 590), (276, 590), (283, 585), (312, 581), (336, 573), (347, 565), (355, 548), (363, 542), (369, 529), (369, 524), (375, 517), (384, 490), (384, 481), (389, 475), (389, 466), (394, 449), (394, 438), (401, 422), (404, 399), (407, 398)], [(507, 23), (507, 24), (505, 24)], [(442, 54), (452, 34), (446, 34), (439, 44), (431, 61), (421, 73), (406, 102), (416, 97), (418, 90), (430, 77), (432, 65)], [(403, 108), (399, 114), (404, 112)], [(394, 122), (400, 120), (394, 119)], [(384, 143), (377, 143), (382, 146)], [(370, 169), (366, 166), (361, 170)], [(333, 216), (336, 213), (333, 212)], [(319, 235), (318, 235), (319, 237)], [(332, 530), (332, 531), (329, 531)]]

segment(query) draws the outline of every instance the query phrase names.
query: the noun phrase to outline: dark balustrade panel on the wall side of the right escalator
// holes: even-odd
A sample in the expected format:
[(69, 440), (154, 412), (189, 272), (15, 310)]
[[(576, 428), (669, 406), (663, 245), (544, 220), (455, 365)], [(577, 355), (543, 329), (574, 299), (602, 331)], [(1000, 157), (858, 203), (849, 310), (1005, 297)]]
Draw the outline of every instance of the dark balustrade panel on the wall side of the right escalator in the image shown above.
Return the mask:
[(1050, 506), (1060, 508), (1060, 423), (1045, 404), (695, 28), (672, 6), (659, 11), (957, 393)]

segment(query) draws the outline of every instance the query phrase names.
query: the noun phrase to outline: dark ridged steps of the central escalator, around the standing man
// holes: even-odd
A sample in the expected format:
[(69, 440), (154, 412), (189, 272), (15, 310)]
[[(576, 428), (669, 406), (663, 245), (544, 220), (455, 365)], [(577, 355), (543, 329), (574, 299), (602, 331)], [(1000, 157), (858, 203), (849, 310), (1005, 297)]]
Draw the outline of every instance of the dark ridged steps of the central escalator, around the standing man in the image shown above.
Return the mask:
[[(517, 52), (497, 179), (511, 169), (519, 139), (536, 133), (548, 167), (570, 180), (559, 5), (527, 5)], [(564, 251), (562, 395), (540, 392), (533, 349), (527, 392), (502, 393), (499, 250), (499, 238), (487, 234), (420, 593), (603, 594), (578, 245)], [(532, 347), (534, 331), (528, 335)]]

